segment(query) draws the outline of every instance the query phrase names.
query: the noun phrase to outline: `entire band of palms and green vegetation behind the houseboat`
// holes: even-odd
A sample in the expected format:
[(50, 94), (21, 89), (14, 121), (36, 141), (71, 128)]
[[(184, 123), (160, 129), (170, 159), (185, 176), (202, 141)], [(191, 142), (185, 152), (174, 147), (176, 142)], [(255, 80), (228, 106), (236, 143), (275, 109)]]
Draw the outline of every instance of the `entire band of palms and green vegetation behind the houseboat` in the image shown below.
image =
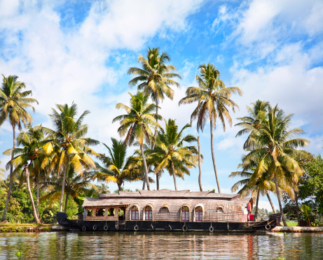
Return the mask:
[[(11, 124), (13, 148), (2, 151), (11, 159), (6, 164), (7, 170), (10, 169), (8, 178), (4, 179), (4, 169), (0, 169), (0, 214), (3, 221), (19, 223), (19, 226), (2, 226), (3, 230), (20, 231), (24, 229), (21, 223), (55, 222), (56, 212), (62, 210), (75, 219), (83, 210), (85, 196), (97, 197), (99, 193), (110, 192), (106, 186), (109, 182), (118, 185), (116, 192), (128, 191), (125, 183), (137, 181), (143, 182), (143, 189), (150, 190), (150, 183), (154, 182), (151, 175), (156, 175), (159, 189), (160, 176), (167, 171), (177, 190), (176, 178), (184, 179), (191, 168), (198, 166), (199, 156), (202, 158), (194, 146), (198, 139), (191, 134), (184, 135), (191, 124), (179, 129), (175, 119), (164, 119), (164, 127), (158, 123), (163, 119), (158, 103), (165, 97), (173, 99), (172, 87), (179, 87), (174, 79), (181, 79), (181, 75), (174, 73), (176, 68), (167, 64), (170, 56), (167, 52), (160, 53), (159, 48), (149, 48), (146, 57), (139, 55), (138, 62), (140, 68), (128, 69), (134, 76), (129, 85), (137, 86), (137, 93), (130, 94), (130, 106), (117, 103), (116, 109), (125, 113), (113, 120), (120, 124), (118, 133), (124, 140), (111, 138), (111, 146), (103, 143), (107, 154), (95, 152), (92, 147), (99, 141), (87, 136), (88, 125), (83, 122), (90, 111), (85, 110), (78, 116), (76, 103), (57, 104), (50, 115), (53, 129), (32, 126), (32, 116), (27, 110), (34, 110), (31, 104), (37, 103), (36, 99), (30, 98), (31, 91), (22, 92), (25, 83), (19, 82), (17, 76), (4, 76), (0, 88), (0, 127), (5, 121)], [(234, 113), (238, 108), (231, 96), (242, 95), (242, 91), (238, 87), (226, 87), (213, 64), (202, 64), (198, 70), (198, 87), (188, 87), (179, 105), (197, 103), (191, 122), (197, 121), (198, 131), (203, 131), (207, 122), (210, 124), (212, 162), (217, 189), (221, 192), (213, 131), (219, 121), (224, 131), (226, 123), (231, 126), (229, 109)], [(270, 214), (258, 207), (261, 195), (268, 197), (276, 212), (269, 195), (273, 193), (278, 198), (280, 212), (286, 211), (287, 218), (296, 216), (299, 222), (303, 217), (307, 225), (322, 224), (318, 217), (323, 215), (321, 157), (299, 150), (308, 140), (298, 138), (303, 133), (301, 129), (289, 128), (291, 115), (285, 115), (278, 106), (256, 101), (247, 107), (247, 113), (246, 117), (238, 118), (237, 125), (242, 129), (237, 136), (245, 133), (248, 136), (244, 144), (246, 154), (238, 166), (241, 171), (230, 175), (242, 180), (233, 185), (232, 191), (255, 198), (254, 214), (259, 219)], [(16, 138), (17, 127), (20, 133)], [(129, 156), (130, 145), (136, 148)], [(94, 181), (101, 183), (94, 185)], [(285, 220), (284, 224), (287, 225)], [(43, 230), (50, 227), (44, 226)]]

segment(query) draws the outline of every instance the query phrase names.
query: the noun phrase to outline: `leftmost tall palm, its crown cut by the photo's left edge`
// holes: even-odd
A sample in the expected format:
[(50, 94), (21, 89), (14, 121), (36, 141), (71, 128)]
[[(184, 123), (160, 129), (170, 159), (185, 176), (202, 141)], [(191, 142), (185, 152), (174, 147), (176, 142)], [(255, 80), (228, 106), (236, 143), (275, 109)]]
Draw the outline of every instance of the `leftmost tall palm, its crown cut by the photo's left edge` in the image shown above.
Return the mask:
[[(13, 149), (15, 149), (15, 127), (18, 127), (19, 130), (22, 129), (21, 122), (27, 124), (32, 122), (32, 115), (30, 115), (26, 108), (32, 108), (35, 111), (34, 107), (30, 103), (38, 103), (36, 99), (31, 99), (28, 96), (32, 95), (32, 91), (28, 90), (22, 92), (24, 89), (25, 83), (18, 81), (18, 76), (9, 75), (8, 78), (4, 76), (1, 88), (0, 88), (0, 126), (8, 120), (13, 127)], [(14, 154), (11, 154), (11, 159), (13, 159)], [(13, 167), (10, 167), (9, 175), (9, 189), (6, 199), (6, 205), (4, 207), (4, 215), (2, 216), (2, 221), (6, 220), (8, 203), (11, 196), (11, 189), (13, 188)]]

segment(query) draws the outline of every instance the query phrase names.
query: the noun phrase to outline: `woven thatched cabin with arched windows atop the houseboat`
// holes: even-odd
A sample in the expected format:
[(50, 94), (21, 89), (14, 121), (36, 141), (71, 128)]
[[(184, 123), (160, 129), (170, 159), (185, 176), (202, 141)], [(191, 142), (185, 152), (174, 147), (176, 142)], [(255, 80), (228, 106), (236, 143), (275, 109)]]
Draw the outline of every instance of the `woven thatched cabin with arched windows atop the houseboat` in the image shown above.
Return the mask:
[(240, 194), (158, 191), (119, 192), (85, 198), (84, 220), (247, 222), (253, 199)]

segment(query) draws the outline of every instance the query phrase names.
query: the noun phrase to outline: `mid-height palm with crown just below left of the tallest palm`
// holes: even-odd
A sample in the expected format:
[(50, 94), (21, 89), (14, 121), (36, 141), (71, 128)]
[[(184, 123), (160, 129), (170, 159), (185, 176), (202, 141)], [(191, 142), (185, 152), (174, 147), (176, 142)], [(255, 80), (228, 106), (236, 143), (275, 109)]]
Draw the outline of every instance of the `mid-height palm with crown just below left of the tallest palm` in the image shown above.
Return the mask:
[[(129, 93), (130, 94), (130, 93)], [(117, 103), (117, 109), (124, 109), (127, 114), (115, 117), (112, 122), (120, 121), (121, 126), (118, 128), (120, 136), (125, 136), (125, 145), (131, 145), (137, 139), (142, 152), (142, 161), (144, 162), (145, 182), (147, 189), (149, 187), (148, 168), (144, 156), (144, 140), (150, 143), (153, 133), (150, 127), (160, 127), (154, 118), (160, 119), (160, 115), (155, 115), (156, 105), (147, 103), (149, 96), (143, 92), (137, 92), (135, 96), (130, 94), (130, 107), (123, 103)]]

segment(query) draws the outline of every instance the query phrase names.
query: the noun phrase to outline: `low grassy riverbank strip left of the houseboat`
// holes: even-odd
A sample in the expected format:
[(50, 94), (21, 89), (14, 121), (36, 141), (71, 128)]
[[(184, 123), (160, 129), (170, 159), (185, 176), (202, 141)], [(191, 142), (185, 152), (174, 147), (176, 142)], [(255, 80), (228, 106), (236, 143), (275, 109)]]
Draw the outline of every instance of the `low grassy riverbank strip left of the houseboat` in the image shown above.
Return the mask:
[(50, 231), (65, 231), (62, 226), (58, 224), (13, 224), (1, 223), (0, 233), (7, 232), (50, 232)]

